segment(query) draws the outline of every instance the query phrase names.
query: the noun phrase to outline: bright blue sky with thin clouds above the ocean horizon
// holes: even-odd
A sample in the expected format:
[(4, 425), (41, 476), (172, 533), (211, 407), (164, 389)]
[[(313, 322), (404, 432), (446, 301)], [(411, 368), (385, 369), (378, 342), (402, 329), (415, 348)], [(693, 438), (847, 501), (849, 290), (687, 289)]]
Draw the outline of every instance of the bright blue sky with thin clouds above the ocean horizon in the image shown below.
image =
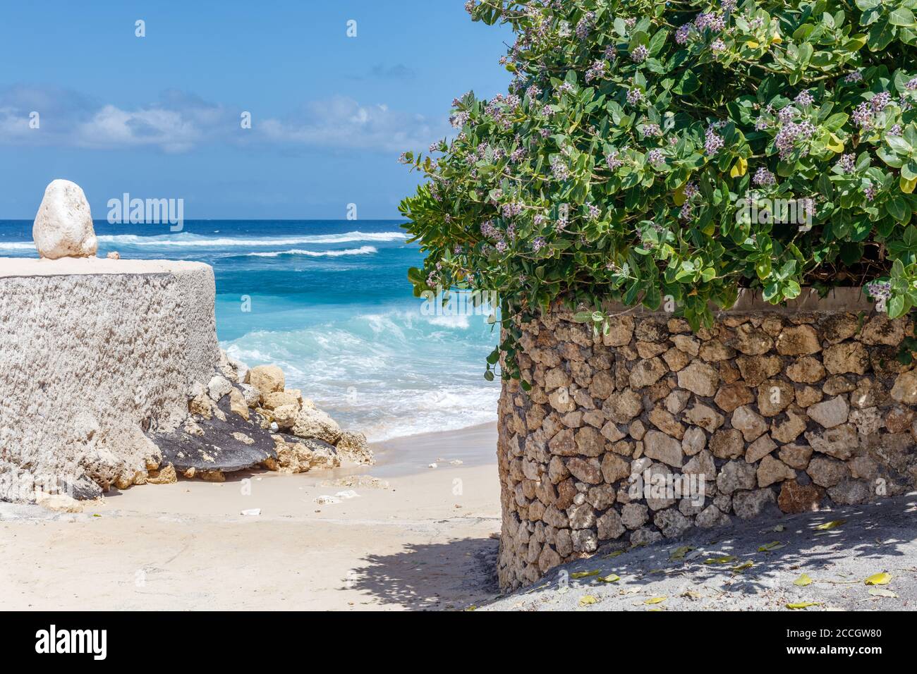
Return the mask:
[(125, 192), (186, 219), (397, 217), (398, 155), (449, 133), (454, 96), (505, 91), (511, 40), (464, 0), (5, 3), (0, 218), (55, 178), (97, 219)]

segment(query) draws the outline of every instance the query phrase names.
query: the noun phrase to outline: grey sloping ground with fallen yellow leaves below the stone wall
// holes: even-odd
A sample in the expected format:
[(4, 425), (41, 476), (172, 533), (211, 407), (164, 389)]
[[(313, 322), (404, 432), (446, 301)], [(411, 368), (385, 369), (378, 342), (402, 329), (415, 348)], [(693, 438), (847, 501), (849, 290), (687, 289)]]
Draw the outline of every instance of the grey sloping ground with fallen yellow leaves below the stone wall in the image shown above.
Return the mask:
[[(779, 546), (758, 549), (769, 544)], [(799, 602), (815, 602), (805, 611), (917, 609), (917, 492), (622, 549), (551, 569), (534, 586), (478, 610), (789, 611), (788, 603)], [(887, 584), (864, 582), (880, 572), (890, 574)], [(803, 573), (811, 582), (795, 585)], [(620, 580), (600, 580), (610, 574)], [(881, 596), (889, 593), (896, 596)]]

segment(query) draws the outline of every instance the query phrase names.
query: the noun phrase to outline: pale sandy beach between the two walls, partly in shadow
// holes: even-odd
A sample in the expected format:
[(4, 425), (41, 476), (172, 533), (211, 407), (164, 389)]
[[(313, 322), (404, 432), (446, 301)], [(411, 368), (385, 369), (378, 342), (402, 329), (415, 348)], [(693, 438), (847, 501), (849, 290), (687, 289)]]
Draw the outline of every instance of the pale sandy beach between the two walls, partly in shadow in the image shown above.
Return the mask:
[[(497, 591), (495, 442), (409, 436), (376, 466), (113, 490), (79, 514), (0, 503), (0, 609), (464, 609)], [(336, 483), (360, 475), (388, 488)]]

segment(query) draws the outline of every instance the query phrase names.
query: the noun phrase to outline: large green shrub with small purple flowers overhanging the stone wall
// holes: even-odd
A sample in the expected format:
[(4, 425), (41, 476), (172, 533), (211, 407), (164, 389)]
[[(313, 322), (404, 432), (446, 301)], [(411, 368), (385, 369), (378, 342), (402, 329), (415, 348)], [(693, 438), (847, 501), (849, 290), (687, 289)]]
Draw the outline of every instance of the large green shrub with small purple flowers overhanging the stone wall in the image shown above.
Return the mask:
[[(457, 98), (457, 135), (403, 162), (425, 251), (409, 278), (557, 299), (670, 304), (697, 328), (740, 287), (867, 283), (917, 305), (917, 0), (471, 0), (508, 23), (506, 95)], [(781, 206), (782, 204), (782, 206)], [(787, 217), (786, 204), (791, 204)]]

